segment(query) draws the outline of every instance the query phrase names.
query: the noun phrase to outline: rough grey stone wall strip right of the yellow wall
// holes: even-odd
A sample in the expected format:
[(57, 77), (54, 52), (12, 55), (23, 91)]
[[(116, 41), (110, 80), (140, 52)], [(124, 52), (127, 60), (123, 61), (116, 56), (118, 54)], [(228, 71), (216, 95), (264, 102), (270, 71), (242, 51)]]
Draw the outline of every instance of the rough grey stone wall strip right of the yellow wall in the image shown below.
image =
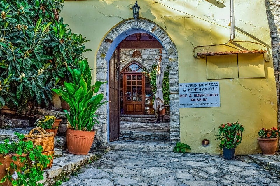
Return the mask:
[(280, 101), (279, 101), (279, 61), (277, 61), (277, 50), (280, 46), (280, 1), (265, 0), (267, 19), (271, 34), (272, 56), (274, 64), (274, 75), (276, 80), (277, 103), (278, 103), (278, 127), (280, 127)]

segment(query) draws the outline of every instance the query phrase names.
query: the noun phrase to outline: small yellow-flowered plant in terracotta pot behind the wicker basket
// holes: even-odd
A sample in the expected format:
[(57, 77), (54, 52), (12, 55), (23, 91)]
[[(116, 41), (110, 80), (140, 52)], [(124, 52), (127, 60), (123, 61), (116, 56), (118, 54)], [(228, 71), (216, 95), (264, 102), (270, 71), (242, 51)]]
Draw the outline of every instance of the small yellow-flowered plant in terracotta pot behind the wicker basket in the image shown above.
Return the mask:
[(58, 125), (55, 124), (55, 120), (56, 120), (56, 117), (54, 117), (54, 116), (44, 116), (35, 121), (35, 126), (42, 127), (44, 130), (46, 130), (46, 132), (55, 133), (55, 135), (56, 135), (59, 123), (58, 123)]

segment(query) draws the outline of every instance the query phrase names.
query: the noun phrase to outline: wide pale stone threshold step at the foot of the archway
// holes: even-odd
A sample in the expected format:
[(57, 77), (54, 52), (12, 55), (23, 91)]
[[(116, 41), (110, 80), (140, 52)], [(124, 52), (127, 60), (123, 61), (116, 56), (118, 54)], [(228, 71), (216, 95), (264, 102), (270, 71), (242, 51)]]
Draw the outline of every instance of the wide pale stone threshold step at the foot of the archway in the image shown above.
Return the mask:
[(119, 140), (106, 144), (112, 150), (140, 152), (173, 152), (169, 141)]

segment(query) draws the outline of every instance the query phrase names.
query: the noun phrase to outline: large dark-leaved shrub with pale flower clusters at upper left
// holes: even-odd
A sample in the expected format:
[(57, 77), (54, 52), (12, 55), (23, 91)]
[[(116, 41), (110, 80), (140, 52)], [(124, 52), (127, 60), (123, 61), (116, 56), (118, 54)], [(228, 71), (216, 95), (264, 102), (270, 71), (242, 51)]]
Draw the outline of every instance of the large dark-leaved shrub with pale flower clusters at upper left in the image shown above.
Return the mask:
[[(0, 108), (51, 107), (51, 89), (76, 68), (87, 42), (58, 17), (63, 0), (0, 0)], [(5, 87), (6, 86), (6, 87)], [(3, 101), (4, 100), (4, 101)]]

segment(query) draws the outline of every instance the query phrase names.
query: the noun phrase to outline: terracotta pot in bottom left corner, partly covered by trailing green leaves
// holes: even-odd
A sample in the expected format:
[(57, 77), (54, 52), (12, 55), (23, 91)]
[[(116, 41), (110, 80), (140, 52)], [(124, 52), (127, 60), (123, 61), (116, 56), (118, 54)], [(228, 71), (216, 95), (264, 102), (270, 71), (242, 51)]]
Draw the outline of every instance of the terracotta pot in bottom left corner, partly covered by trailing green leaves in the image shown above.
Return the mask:
[[(16, 156), (18, 161), (14, 161), (12, 159), (13, 156)], [(24, 157), (24, 156), (27, 156), (27, 155), (26, 154), (22, 154), (21, 156)], [(18, 166), (18, 169), (16, 171), (19, 171), (19, 167), (23, 167), (24, 166), (24, 162), (21, 163), (19, 161), (19, 159), (20, 159), (19, 157), (20, 157), (20, 155), (18, 155), (18, 154), (6, 154), (4, 156), (0, 155), (0, 162), (2, 163), (2, 165), (0, 165), (0, 180), (6, 175), (6, 170), (10, 167), (10, 164), (12, 162)], [(11, 174), (13, 174), (13, 172), (15, 170), (10, 168), (9, 171), (11, 172)], [(0, 185), (10, 186), (10, 185), (12, 185), (12, 183), (9, 182), (9, 181), (5, 181), (3, 183), (0, 183)]]

